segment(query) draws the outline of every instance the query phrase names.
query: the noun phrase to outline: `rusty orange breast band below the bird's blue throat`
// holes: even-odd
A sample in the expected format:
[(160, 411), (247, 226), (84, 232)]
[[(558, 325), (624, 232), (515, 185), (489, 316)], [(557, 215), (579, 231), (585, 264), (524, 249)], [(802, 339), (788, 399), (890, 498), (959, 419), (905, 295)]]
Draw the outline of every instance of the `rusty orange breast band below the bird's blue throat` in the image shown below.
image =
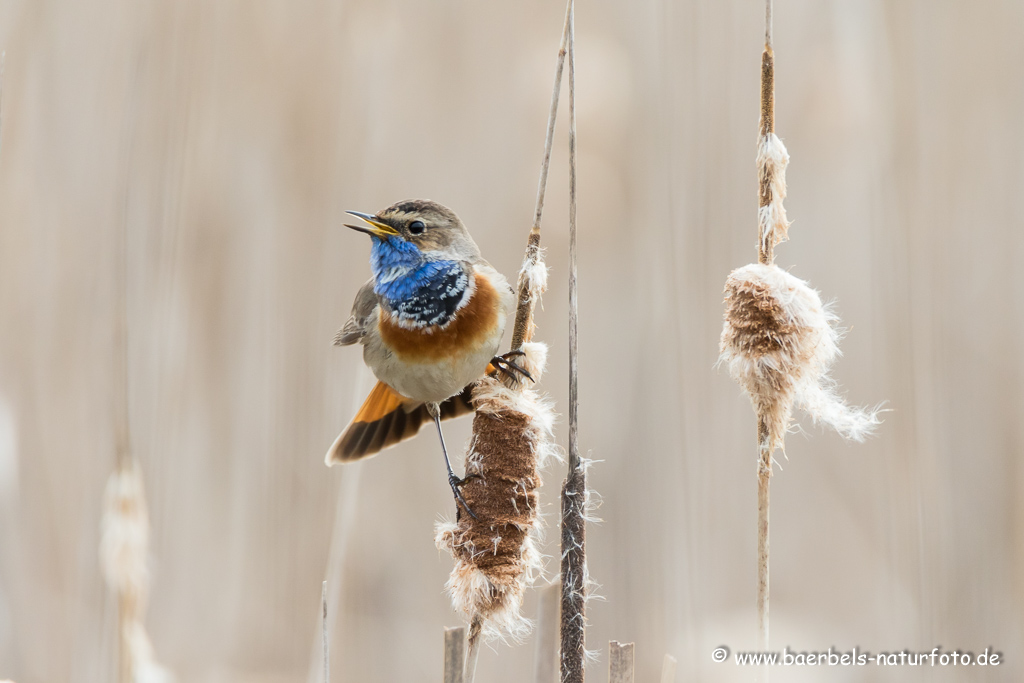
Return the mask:
[(381, 341), (406, 362), (437, 362), (477, 348), (495, 332), (500, 301), (494, 286), (479, 274), (469, 302), (456, 313), (447, 327), (409, 330), (392, 322), (381, 310), (377, 324)]

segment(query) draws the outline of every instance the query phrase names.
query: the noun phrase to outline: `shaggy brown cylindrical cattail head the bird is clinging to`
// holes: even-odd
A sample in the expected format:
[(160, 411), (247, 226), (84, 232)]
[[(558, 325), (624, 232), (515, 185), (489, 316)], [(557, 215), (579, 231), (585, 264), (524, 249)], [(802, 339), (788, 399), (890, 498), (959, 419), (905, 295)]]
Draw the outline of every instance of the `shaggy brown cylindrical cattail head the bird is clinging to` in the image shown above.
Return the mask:
[[(539, 380), (547, 346), (525, 343), (517, 358)], [(462, 494), (476, 514), (459, 510), (437, 525), (436, 544), (452, 553), (447, 589), (456, 609), (478, 623), (485, 639), (520, 640), (530, 628), (521, 606), (541, 570), (537, 536), (540, 468), (557, 453), (550, 401), (532, 389), (484, 378), (473, 392), (476, 416)]]

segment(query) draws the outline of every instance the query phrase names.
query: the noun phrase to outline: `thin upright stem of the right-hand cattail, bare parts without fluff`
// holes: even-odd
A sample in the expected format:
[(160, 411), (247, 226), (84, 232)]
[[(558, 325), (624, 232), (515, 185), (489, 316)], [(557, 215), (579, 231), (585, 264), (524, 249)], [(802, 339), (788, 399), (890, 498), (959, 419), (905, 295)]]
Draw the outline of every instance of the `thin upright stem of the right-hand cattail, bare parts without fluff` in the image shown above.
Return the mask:
[[(765, 0), (765, 49), (761, 54), (761, 138), (775, 132), (775, 55), (772, 51), (772, 0)], [(760, 147), (760, 142), (759, 142)], [(774, 169), (774, 166), (771, 167)], [(758, 209), (772, 202), (774, 178), (759, 169)], [(765, 239), (765, 225), (758, 220), (758, 260), (775, 261), (775, 240)], [(768, 421), (758, 416), (758, 649), (768, 649), (768, 510), (771, 499), (771, 456), (774, 450)], [(767, 676), (767, 673), (765, 674)]]

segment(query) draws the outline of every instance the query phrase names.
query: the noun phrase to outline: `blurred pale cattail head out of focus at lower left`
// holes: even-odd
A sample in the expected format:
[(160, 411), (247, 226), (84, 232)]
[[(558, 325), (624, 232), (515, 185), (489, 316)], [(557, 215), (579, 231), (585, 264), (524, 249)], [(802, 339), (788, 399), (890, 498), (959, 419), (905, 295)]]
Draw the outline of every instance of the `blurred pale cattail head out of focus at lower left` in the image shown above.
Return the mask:
[(103, 578), (118, 596), (123, 666), (135, 683), (173, 680), (154, 655), (142, 624), (150, 595), (150, 516), (138, 462), (130, 460), (106, 482), (99, 558)]

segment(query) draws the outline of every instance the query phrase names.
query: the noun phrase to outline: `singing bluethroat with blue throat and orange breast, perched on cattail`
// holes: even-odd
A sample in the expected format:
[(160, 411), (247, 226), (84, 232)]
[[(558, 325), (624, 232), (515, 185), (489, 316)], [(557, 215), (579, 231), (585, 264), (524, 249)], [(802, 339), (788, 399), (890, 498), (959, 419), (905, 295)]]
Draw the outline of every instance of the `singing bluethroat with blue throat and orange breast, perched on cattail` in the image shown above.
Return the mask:
[(471, 386), (485, 374), (529, 377), (512, 360), (514, 353), (496, 355), (515, 295), (459, 217), (436, 202), (399, 202), (377, 215), (347, 213), (366, 222), (346, 227), (370, 236), (373, 276), (355, 295), (334, 343), (361, 344), (378, 382), (331, 445), (327, 464), (380, 453), (415, 436), (430, 418), (452, 490), (473, 515), (459, 489), (463, 480), (452, 471), (440, 423), (472, 412)]

